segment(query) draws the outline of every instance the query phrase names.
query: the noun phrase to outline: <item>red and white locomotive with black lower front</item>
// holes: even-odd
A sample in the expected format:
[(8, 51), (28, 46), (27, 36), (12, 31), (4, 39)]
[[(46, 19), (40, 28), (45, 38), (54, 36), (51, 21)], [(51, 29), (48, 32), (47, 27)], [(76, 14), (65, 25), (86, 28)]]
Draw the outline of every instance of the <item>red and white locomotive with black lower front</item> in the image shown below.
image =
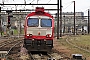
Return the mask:
[(43, 7), (26, 16), (24, 46), (28, 51), (50, 51), (53, 48), (54, 19)]

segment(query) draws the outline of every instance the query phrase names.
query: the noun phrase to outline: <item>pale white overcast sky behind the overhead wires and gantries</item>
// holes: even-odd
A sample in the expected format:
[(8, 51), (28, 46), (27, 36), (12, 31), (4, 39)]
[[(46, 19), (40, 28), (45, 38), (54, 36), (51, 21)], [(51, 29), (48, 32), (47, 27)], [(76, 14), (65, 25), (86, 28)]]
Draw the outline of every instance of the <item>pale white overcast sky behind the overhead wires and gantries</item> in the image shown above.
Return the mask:
[[(0, 3), (12, 3), (12, 4), (20, 4), (24, 3), (24, 0), (0, 0)], [(62, 6), (63, 6), (63, 12), (73, 12), (73, 1), (76, 3), (76, 12), (84, 12), (87, 14), (87, 10), (90, 9), (90, 0), (62, 0)], [(37, 0), (26, 0), (26, 3), (37, 3)], [(52, 3), (56, 4), (57, 0), (39, 0), (38, 3)], [(36, 6), (26, 6), (26, 9), (29, 8), (35, 8)], [(4, 9), (11, 7), (3, 7)], [(57, 6), (45, 6), (45, 8), (57, 8)], [(15, 6), (13, 6), (12, 9), (15, 9)], [(17, 9), (24, 9), (24, 6), (18, 6)]]

